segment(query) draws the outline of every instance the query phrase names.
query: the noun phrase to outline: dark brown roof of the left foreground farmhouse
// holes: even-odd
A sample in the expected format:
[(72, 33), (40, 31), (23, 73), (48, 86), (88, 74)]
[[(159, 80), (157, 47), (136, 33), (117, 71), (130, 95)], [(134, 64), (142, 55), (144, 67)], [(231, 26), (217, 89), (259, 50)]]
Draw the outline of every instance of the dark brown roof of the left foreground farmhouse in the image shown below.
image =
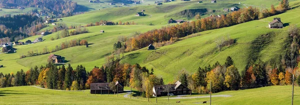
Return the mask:
[[(115, 85), (123, 88), (118, 82), (115, 82)], [(110, 90), (109, 83), (91, 83), (90, 90)]]

